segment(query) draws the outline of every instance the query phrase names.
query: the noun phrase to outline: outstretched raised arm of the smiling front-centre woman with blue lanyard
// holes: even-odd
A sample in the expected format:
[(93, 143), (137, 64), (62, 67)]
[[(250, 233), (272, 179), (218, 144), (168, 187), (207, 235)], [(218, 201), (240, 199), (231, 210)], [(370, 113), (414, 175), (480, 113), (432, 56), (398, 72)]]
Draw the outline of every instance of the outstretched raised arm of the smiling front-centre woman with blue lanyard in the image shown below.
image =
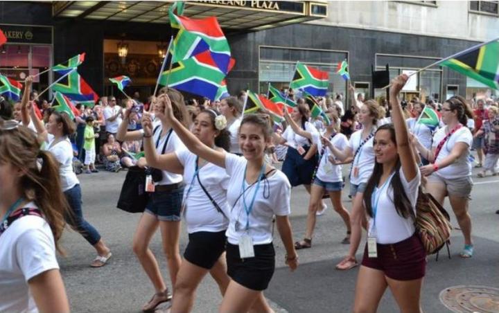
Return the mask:
[[(161, 101), (164, 104), (165, 117), (173, 130), (175, 130), (177, 136), (179, 136), (180, 140), (184, 142), (187, 149), (193, 152), (193, 154), (197, 154), (200, 158), (205, 159), (216, 166), (220, 166), (220, 168), (225, 168), (225, 152), (220, 152), (204, 145), (196, 136), (189, 132), (189, 129), (186, 129), (186, 127), (173, 116), (172, 104), (166, 93), (159, 96), (158, 101)], [(184, 104), (182, 103), (181, 105)]]

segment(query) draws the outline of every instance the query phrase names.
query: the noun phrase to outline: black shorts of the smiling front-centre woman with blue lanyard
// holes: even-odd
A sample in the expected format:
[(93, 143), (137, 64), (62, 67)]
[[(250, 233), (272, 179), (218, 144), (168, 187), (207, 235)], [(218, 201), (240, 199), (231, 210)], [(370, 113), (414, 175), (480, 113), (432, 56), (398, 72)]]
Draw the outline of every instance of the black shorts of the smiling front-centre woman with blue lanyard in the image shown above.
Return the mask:
[(239, 257), (239, 246), (227, 242), (227, 274), (239, 285), (256, 291), (267, 289), (275, 269), (274, 245), (257, 244), (254, 258)]

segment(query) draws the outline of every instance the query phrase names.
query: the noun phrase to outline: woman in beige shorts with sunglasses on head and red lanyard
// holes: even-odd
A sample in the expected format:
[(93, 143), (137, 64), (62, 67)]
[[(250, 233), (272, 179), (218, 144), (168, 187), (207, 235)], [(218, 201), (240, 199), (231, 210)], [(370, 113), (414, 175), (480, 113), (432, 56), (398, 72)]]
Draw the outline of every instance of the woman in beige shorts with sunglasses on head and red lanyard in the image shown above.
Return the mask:
[(428, 176), (426, 189), (440, 204), (444, 204), (445, 197), (449, 198), (464, 235), (464, 248), (460, 256), (471, 258), (473, 241), (468, 210), (473, 188), (469, 158), (473, 134), (466, 127), (466, 121), (473, 118), (473, 111), (464, 98), (455, 96), (444, 102), (440, 112), (446, 126), (433, 135), (432, 149), (428, 150), (421, 142), (416, 142), (421, 156), (430, 161), (429, 165), (421, 167), (421, 174)]

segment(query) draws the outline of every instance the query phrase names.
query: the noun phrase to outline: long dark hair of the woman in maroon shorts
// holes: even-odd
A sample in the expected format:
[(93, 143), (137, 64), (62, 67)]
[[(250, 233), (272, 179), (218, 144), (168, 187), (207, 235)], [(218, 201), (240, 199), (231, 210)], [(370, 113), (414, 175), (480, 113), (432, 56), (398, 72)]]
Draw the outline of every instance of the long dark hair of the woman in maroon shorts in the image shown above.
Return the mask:
[[(381, 125), (376, 129), (376, 133), (379, 132), (380, 130), (388, 130), (390, 133), (390, 139), (392, 140), (393, 143), (396, 145), (396, 140), (395, 140), (395, 128), (393, 124), (385, 124)], [(376, 138), (376, 136), (375, 136)], [(375, 140), (376, 142), (376, 140)], [(395, 209), (397, 213), (404, 218), (412, 217), (415, 219), (414, 211), (412, 210), (412, 205), (409, 201), (408, 196), (405, 194), (405, 190), (403, 189), (401, 177), (400, 177), (400, 170), (401, 170), (401, 161), (400, 158), (397, 154), (397, 162), (395, 165), (395, 173), (394, 176), (392, 177), (392, 181), (390, 181), (388, 189), (393, 190), (393, 199), (392, 202), (395, 205)], [(364, 205), (367, 211), (367, 214), (369, 217), (373, 217), (372, 213), (372, 204), (371, 204), (371, 197), (372, 193), (374, 191), (374, 188), (378, 186), (381, 175), (383, 175), (383, 164), (378, 163), (377, 161), (374, 162), (374, 170), (369, 178), (369, 181), (367, 181), (367, 186), (364, 191)]]

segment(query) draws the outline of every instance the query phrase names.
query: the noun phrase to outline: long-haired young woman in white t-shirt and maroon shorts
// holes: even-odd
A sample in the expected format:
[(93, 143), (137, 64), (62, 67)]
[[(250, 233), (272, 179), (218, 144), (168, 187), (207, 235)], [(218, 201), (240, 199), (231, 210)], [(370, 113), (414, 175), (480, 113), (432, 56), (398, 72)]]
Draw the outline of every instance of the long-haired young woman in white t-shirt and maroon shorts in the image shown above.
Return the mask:
[(392, 124), (374, 136), (376, 164), (362, 195), (369, 216), (353, 312), (376, 312), (387, 287), (400, 312), (421, 312), (426, 251), (416, 232), (416, 202), (421, 175), (409, 142), (399, 92), (407, 75), (392, 80)]

